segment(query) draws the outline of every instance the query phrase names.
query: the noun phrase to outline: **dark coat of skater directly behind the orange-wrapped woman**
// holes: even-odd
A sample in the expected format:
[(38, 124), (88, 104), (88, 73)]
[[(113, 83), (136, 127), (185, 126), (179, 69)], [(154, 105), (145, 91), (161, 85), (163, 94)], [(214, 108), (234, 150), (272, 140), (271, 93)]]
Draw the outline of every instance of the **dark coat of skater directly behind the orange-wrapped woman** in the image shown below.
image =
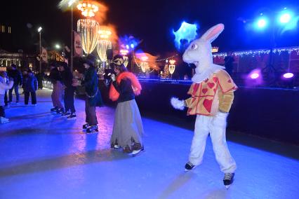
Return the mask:
[(84, 75), (82, 84), (85, 87), (86, 97), (91, 107), (102, 107), (102, 95), (98, 87), (98, 75), (95, 67), (89, 67)]

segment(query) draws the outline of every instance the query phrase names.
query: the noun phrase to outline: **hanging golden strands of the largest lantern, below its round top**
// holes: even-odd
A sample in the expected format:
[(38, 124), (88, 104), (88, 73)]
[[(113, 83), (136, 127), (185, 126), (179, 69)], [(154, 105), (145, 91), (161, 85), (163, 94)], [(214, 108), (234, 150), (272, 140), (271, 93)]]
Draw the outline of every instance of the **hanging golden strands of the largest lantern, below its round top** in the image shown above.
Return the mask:
[(81, 19), (77, 22), (77, 30), (82, 33), (82, 48), (86, 54), (91, 54), (98, 43), (99, 23), (91, 19)]

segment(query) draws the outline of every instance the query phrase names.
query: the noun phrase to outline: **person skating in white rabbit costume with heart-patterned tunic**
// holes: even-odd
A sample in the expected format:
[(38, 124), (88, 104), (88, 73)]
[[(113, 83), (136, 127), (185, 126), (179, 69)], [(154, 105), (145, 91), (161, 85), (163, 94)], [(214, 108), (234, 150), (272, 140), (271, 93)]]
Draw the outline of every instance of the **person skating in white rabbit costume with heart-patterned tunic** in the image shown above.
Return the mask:
[(225, 173), (223, 182), (227, 188), (234, 180), (234, 171), (237, 166), (227, 149), (225, 139), (226, 119), (237, 85), (222, 67), (213, 64), (211, 42), (223, 31), (224, 25), (218, 24), (192, 41), (182, 55), (182, 60), (196, 66), (192, 77), (192, 85), (188, 91), (192, 95), (189, 99), (179, 100), (173, 97), (171, 104), (175, 109), (188, 108), (188, 115), (197, 115), (194, 137), (185, 170), (192, 170), (201, 164), (208, 134), (211, 136), (215, 158), (220, 170)]

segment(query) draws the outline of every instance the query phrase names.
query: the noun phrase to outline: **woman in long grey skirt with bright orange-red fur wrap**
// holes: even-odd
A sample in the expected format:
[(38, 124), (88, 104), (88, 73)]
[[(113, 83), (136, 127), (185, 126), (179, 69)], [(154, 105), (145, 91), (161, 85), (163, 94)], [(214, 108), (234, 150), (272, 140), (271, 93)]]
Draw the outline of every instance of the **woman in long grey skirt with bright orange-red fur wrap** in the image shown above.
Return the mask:
[(143, 151), (143, 125), (135, 95), (140, 95), (141, 85), (134, 74), (128, 72), (121, 55), (114, 56), (112, 67), (117, 77), (112, 74), (109, 98), (117, 101), (114, 116), (111, 147), (123, 148), (124, 153), (136, 155)]

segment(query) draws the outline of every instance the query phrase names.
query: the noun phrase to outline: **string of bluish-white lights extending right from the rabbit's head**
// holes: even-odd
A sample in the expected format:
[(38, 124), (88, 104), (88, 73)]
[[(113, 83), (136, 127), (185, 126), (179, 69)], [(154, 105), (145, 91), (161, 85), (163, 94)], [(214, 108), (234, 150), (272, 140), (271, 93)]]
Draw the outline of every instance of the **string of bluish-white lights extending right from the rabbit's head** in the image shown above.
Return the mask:
[[(279, 55), (283, 52), (288, 52), (290, 54), (293, 51), (297, 51), (297, 55), (299, 55), (299, 46), (297, 47), (290, 47), (290, 48), (274, 48), (272, 50), (272, 53), (279, 53)], [(271, 50), (266, 50), (266, 49), (261, 49), (261, 50), (247, 50), (247, 51), (238, 51), (238, 52), (233, 52), (232, 55), (234, 56), (246, 56), (246, 55), (252, 55), (255, 57), (256, 55), (269, 55)], [(227, 53), (215, 53), (213, 54), (213, 57), (225, 57), (227, 56)]]

